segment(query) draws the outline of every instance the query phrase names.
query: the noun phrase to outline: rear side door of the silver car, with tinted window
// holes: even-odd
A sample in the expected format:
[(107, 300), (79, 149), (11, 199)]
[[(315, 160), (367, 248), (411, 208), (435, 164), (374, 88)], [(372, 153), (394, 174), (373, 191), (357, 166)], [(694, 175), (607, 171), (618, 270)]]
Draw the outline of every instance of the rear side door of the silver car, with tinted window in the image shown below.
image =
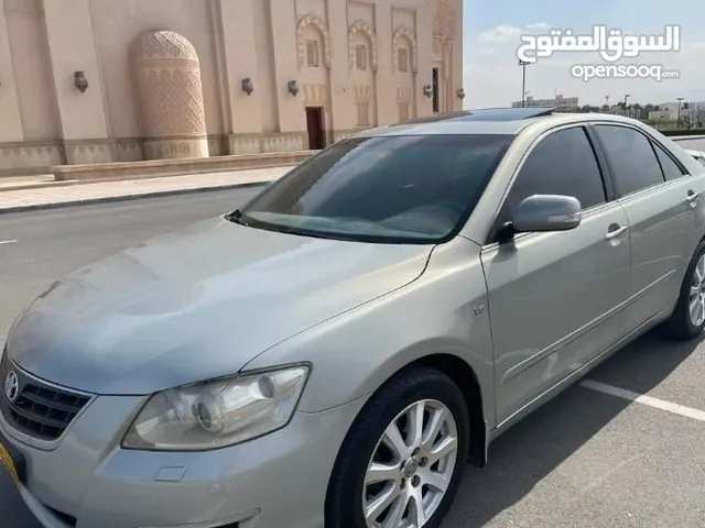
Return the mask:
[(673, 307), (699, 239), (695, 210), (703, 198), (685, 167), (646, 133), (622, 124), (595, 131), (629, 221), (632, 330)]

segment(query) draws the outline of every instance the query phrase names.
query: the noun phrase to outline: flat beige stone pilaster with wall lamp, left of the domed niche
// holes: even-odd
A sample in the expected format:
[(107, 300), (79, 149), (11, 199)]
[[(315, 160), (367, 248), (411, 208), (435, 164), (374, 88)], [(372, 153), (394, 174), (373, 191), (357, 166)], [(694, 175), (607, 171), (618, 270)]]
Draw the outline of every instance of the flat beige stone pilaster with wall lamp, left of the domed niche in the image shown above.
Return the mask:
[[(111, 162), (89, 0), (44, 0), (44, 15), (66, 160)], [(88, 80), (85, 92), (75, 86), (76, 72)]]

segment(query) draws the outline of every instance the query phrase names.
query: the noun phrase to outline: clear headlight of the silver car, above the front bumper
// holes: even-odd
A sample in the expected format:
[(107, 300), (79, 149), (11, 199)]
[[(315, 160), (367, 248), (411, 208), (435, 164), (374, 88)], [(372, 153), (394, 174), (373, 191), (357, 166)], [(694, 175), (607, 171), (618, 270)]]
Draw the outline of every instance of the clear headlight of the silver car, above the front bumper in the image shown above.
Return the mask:
[(296, 365), (158, 393), (122, 447), (205, 451), (268, 435), (289, 424), (307, 376), (308, 367)]

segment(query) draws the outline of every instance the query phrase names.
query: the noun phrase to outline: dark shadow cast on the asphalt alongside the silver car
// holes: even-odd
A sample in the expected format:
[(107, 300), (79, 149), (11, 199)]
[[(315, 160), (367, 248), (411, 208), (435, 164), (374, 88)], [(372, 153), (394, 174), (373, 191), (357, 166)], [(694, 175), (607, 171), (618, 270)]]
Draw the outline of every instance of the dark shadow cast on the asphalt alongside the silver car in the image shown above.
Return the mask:
[[(617, 352), (586, 377), (629, 380), (647, 393), (665, 380), (699, 341), (665, 341), (653, 331)], [(579, 383), (579, 382), (578, 382)], [(608, 383), (608, 382), (606, 382)], [(599, 402), (599, 405), (596, 405)], [(468, 466), (444, 528), (480, 528), (511, 507), (609, 424), (630, 402), (573, 386), (499, 437), (482, 470)]]

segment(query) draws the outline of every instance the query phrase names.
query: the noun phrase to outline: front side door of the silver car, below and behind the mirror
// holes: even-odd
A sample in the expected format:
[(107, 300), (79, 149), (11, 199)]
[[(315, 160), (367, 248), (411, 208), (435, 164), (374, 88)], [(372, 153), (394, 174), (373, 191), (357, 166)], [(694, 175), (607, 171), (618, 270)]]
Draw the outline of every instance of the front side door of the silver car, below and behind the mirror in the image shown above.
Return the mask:
[(629, 295), (627, 217), (609, 201), (583, 127), (534, 142), (505, 195), (496, 226), (535, 194), (574, 196), (571, 231), (522, 233), (481, 252), (496, 361), (497, 416), (509, 419), (619, 339)]

